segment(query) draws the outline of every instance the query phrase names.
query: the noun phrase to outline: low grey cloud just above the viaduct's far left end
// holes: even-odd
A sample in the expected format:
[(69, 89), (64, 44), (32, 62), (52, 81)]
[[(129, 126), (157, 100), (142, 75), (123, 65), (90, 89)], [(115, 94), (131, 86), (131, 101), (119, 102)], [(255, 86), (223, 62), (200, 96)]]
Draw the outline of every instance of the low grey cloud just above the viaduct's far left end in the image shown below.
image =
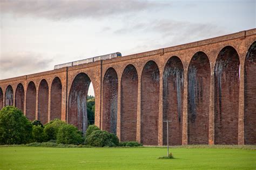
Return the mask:
[(33, 52), (3, 53), (0, 58), (0, 79), (49, 70), (52, 61)]

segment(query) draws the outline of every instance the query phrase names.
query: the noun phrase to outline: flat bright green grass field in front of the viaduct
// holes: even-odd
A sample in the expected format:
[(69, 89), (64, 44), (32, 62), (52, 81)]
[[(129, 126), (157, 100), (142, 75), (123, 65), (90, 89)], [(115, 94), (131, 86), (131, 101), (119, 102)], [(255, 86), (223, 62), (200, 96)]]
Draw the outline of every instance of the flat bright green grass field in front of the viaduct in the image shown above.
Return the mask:
[(0, 169), (256, 169), (256, 151), (171, 148), (0, 147)]

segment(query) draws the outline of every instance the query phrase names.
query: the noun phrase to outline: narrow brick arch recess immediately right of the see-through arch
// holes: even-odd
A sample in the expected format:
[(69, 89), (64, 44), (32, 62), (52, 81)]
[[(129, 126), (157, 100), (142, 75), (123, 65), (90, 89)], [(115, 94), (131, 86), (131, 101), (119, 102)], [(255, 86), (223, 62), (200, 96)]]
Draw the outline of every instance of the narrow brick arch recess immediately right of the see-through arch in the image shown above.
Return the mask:
[(117, 133), (118, 76), (114, 68), (106, 70), (103, 78), (103, 130)]

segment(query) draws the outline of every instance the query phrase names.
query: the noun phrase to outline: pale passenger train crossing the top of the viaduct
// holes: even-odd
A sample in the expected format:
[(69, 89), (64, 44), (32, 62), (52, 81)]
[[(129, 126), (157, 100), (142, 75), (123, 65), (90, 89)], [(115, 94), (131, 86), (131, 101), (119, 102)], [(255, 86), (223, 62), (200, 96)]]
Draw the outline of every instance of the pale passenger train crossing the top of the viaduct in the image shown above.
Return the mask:
[(106, 55), (100, 55), (100, 56), (95, 56), (95, 57), (84, 59), (84, 60), (78, 60), (78, 61), (63, 63), (60, 65), (55, 65), (54, 69), (78, 66), (78, 65), (83, 65), (84, 63), (90, 63), (90, 62), (95, 62), (95, 61), (99, 61), (99, 60), (108, 60), (108, 59), (117, 58), (117, 57), (121, 57), (121, 56), (122, 56), (122, 54), (120, 52), (106, 54)]

